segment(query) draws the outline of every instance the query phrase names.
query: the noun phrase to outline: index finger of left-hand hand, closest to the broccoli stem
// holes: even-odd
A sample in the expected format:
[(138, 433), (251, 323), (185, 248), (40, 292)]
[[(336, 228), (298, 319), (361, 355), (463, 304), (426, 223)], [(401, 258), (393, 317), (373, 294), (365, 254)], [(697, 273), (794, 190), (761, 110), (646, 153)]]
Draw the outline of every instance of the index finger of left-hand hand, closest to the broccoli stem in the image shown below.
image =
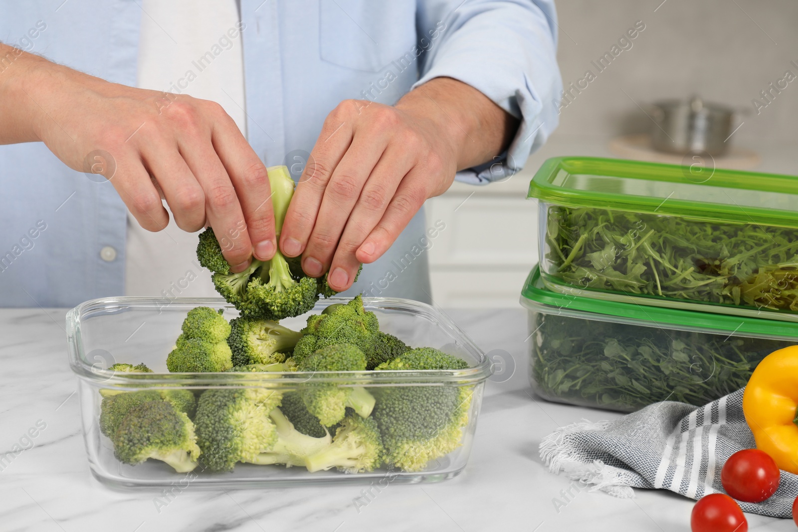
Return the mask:
[(227, 113), (215, 122), (211, 139), (239, 198), (252, 252), (260, 260), (269, 260), (275, 255), (277, 241), (266, 165)]

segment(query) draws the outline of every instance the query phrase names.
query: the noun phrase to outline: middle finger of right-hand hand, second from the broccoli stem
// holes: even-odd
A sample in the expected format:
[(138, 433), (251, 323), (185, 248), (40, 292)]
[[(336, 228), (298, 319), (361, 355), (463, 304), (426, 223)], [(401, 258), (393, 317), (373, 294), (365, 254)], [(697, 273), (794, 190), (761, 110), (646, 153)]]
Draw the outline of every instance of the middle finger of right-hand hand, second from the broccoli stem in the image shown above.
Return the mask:
[(302, 252), (302, 269), (309, 276), (320, 276), (330, 267), (346, 220), (358, 202), (363, 185), (388, 145), (390, 132), (371, 128), (355, 133), (350, 148), (335, 167), (322, 197), (313, 231)]

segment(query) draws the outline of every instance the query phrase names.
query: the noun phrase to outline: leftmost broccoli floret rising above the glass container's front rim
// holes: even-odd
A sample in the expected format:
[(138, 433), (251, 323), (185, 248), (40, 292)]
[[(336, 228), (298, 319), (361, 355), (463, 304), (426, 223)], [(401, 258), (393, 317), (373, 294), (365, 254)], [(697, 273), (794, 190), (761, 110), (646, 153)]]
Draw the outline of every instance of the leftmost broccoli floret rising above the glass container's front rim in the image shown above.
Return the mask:
[(222, 311), (197, 307), (188, 311), (183, 322), (183, 334), (166, 358), (169, 371), (227, 371), (233, 367), (232, 352), (227, 345), (230, 324)]

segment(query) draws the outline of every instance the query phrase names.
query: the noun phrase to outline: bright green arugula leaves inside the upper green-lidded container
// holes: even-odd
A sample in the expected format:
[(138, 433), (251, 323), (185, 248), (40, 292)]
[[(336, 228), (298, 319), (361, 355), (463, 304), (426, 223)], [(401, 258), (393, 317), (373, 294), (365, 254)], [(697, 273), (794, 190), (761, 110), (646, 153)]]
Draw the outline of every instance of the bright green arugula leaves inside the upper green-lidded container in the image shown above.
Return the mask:
[(798, 229), (551, 206), (544, 270), (610, 292), (798, 311)]

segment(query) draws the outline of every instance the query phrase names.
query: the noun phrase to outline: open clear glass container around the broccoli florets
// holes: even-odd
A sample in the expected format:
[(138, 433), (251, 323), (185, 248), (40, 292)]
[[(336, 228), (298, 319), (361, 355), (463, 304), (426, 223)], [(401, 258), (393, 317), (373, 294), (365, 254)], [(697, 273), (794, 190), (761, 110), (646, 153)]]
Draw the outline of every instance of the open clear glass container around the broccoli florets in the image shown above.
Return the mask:
[[(346, 299), (319, 301), (312, 313), (318, 314)], [(380, 328), (397, 335), (411, 347), (437, 347), (459, 356), (471, 367), (452, 371), (343, 371), (333, 376), (293, 371), (279, 378), (263, 373), (168, 373), (166, 356), (172, 350), (186, 313), (198, 306), (224, 308), (229, 320), (237, 316), (234, 308), (221, 299), (145, 299), (118, 297), (91, 300), (73, 308), (66, 317), (69, 364), (79, 377), (83, 433), (89, 464), (95, 477), (119, 487), (206, 486), (253, 487), (326, 484), (334, 482), (435, 482), (452, 478), (468, 461), (480, 411), (484, 380), (490, 375), (490, 362), (468, 336), (446, 316), (426, 304), (393, 298), (364, 298), (367, 310), (377, 314)], [(282, 320), (286, 327), (299, 330), (306, 316)], [(145, 363), (154, 373), (120, 374), (105, 368), (113, 363)], [(271, 375), (275, 375), (272, 373)], [(338, 387), (471, 387), (468, 424), (461, 431), (460, 447), (427, 464), (425, 470), (406, 472), (381, 468), (369, 473), (347, 474), (338, 470), (310, 473), (303, 467), (262, 466), (238, 463), (230, 473), (211, 473), (198, 466), (190, 473), (176, 473), (170, 466), (147, 460), (136, 466), (120, 463), (113, 444), (101, 434), (101, 389), (117, 391), (188, 388), (196, 394), (220, 387), (261, 387), (274, 391), (296, 391), (313, 379), (314, 383), (334, 383)], [(201, 459), (201, 456), (200, 456)], [(387, 480), (386, 480), (387, 479)]]

